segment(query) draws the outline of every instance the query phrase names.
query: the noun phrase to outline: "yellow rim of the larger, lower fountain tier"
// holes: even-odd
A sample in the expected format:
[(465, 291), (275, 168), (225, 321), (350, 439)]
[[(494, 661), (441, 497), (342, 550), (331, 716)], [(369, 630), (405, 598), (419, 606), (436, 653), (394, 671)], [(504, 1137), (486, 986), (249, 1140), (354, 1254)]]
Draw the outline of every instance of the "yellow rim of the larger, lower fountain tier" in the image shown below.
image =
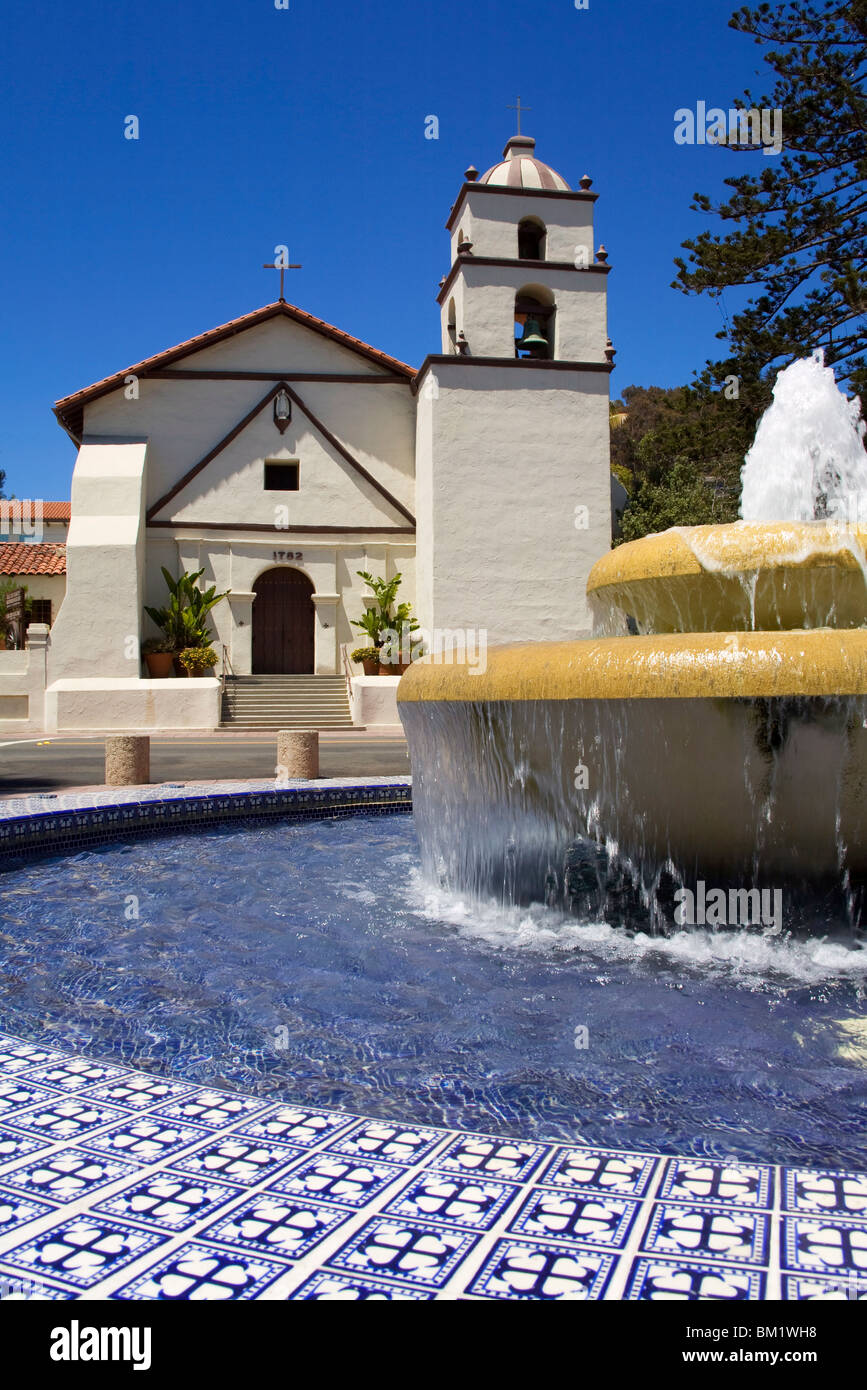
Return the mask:
[(528, 642), (490, 649), (485, 671), (424, 657), (397, 687), (402, 705), (866, 694), (867, 628)]

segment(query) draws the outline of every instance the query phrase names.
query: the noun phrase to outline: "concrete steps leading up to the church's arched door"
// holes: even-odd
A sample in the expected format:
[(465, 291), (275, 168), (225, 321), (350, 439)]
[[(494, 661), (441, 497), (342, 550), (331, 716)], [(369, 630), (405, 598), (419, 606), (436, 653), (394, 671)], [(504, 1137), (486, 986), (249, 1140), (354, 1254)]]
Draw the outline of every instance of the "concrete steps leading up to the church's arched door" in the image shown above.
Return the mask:
[(222, 728), (352, 728), (342, 676), (229, 676)]

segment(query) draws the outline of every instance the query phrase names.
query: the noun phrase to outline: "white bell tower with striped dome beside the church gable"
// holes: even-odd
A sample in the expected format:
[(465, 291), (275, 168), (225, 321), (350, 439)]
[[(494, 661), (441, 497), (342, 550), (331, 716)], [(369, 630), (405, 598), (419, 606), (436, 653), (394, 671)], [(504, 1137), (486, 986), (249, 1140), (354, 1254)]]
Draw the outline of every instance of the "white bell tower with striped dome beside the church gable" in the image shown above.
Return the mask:
[(446, 228), (442, 350), (417, 411), (417, 610), (488, 642), (589, 631), (585, 585), (611, 543), (607, 253), (591, 179), (571, 189), (513, 136), (464, 174)]

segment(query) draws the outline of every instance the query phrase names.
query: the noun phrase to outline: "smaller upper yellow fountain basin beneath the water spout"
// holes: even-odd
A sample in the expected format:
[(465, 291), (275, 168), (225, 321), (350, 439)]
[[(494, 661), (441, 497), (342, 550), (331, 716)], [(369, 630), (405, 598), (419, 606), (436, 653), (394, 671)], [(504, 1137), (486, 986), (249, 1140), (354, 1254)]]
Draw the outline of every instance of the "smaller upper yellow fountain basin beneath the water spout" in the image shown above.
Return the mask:
[(779, 521), (675, 527), (604, 555), (588, 594), (602, 624), (732, 632), (867, 624), (867, 527)]

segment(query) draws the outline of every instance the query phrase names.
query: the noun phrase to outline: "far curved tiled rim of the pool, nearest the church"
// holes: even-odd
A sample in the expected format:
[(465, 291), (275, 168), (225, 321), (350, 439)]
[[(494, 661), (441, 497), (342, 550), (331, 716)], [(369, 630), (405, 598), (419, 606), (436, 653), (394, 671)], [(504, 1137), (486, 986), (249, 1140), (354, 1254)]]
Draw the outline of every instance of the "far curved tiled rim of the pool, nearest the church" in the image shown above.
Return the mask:
[(0, 803), (0, 870), (125, 837), (175, 834), (239, 820), (313, 820), (411, 810), (410, 777), (161, 783), (10, 798)]

